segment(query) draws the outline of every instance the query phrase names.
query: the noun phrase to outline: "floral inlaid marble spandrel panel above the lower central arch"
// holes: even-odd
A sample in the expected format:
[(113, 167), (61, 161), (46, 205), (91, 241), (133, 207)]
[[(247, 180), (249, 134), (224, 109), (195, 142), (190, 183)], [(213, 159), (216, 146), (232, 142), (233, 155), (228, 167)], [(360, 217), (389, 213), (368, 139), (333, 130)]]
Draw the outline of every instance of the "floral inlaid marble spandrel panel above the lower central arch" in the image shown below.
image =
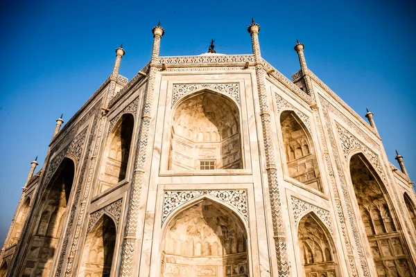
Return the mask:
[(176, 208), (189, 202), (192, 199), (210, 195), (221, 202), (234, 206), (241, 215), (248, 220), (247, 191), (246, 190), (166, 190), (164, 192), (162, 225)]

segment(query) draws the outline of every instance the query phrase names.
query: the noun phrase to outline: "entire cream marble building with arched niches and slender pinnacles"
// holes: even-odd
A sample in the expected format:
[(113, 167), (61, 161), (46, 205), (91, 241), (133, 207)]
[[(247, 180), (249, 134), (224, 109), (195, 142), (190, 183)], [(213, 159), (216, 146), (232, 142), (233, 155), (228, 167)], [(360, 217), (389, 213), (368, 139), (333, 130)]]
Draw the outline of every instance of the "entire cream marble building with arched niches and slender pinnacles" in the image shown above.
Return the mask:
[(110, 77), (23, 188), (0, 276), (416, 276), (416, 196), (367, 121), (306, 65), (164, 57)]

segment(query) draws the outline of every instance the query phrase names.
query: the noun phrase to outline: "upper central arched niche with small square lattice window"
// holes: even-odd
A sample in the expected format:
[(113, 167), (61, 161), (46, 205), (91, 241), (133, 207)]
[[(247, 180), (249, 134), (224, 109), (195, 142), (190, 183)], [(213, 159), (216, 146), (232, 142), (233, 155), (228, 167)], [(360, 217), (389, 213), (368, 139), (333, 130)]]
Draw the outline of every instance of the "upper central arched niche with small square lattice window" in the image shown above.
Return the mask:
[(243, 168), (240, 114), (233, 100), (202, 91), (176, 104), (168, 169)]

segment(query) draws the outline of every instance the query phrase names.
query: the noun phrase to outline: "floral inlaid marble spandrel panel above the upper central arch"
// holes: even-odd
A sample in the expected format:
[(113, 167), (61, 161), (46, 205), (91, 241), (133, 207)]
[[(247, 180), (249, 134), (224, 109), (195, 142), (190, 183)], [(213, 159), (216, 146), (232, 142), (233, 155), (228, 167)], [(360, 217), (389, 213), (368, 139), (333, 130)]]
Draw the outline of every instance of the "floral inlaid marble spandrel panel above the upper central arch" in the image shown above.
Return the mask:
[(215, 89), (217, 91), (225, 92), (240, 103), (240, 90), (239, 83), (227, 83), (227, 84), (173, 84), (173, 96), (172, 105), (177, 100), (182, 98), (185, 94), (196, 91), (202, 87), (209, 89)]

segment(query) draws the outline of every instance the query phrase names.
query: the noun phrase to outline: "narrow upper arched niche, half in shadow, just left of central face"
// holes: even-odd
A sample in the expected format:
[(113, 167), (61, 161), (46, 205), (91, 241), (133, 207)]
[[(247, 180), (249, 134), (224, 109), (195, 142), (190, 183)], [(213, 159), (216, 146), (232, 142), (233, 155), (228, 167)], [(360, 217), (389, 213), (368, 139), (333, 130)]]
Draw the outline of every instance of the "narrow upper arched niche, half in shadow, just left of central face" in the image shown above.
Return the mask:
[(97, 194), (125, 179), (134, 125), (132, 114), (123, 114), (110, 132), (105, 143)]

